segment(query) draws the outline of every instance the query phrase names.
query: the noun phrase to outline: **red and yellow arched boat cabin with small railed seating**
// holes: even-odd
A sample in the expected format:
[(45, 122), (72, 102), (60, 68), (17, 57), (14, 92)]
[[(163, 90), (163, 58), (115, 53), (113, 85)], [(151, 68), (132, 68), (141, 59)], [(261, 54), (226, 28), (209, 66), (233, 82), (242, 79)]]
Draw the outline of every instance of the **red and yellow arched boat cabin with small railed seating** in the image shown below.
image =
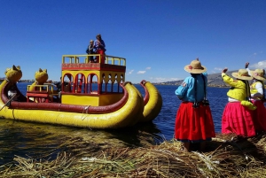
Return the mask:
[[(90, 63), (89, 57), (102, 58), (98, 63)], [(123, 97), (120, 84), (125, 81), (126, 58), (113, 56), (63, 55), (61, 66), (62, 88), (59, 93), (49, 83), (36, 85), (35, 91), (27, 88), (27, 100), (35, 102), (56, 102), (61, 104), (79, 104), (104, 106), (114, 104)], [(60, 99), (54, 100), (53, 98)], [(43, 98), (36, 101), (36, 98)]]

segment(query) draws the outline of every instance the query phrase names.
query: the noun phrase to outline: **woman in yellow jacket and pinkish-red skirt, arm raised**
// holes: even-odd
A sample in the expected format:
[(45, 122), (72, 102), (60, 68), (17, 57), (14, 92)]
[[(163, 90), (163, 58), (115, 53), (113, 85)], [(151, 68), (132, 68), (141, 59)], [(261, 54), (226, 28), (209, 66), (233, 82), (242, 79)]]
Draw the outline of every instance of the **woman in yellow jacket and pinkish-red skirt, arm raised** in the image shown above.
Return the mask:
[(238, 73), (226, 74), (227, 68), (222, 71), (223, 81), (231, 86), (227, 92), (228, 104), (225, 105), (222, 116), (222, 133), (235, 133), (240, 136), (250, 137), (255, 135), (252, 112), (256, 108), (249, 101), (250, 90), (248, 81), (252, 77), (246, 69), (239, 69)]

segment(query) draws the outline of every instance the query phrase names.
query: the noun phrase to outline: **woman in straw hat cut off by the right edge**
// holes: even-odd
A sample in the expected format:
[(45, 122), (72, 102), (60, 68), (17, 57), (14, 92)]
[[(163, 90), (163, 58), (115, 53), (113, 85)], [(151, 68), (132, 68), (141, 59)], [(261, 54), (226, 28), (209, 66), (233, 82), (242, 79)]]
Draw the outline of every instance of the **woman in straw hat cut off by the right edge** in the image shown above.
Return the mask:
[(264, 107), (265, 93), (264, 93), (264, 69), (249, 70), (249, 63), (247, 62), (245, 67), (248, 74), (253, 77), (253, 83), (250, 85), (251, 101), (257, 107), (253, 112), (254, 129), (257, 134), (262, 131), (266, 131), (266, 110)]

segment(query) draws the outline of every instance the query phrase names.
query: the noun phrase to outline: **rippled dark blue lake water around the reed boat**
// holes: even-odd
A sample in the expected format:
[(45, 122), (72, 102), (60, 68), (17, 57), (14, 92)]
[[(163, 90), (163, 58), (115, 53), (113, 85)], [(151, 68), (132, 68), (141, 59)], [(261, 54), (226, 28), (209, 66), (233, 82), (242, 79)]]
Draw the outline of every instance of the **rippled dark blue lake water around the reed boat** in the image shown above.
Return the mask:
[[(29, 83), (18, 83), (22, 93), (26, 93)], [(144, 95), (144, 89), (136, 85)], [(180, 100), (175, 95), (177, 86), (156, 85), (163, 99), (160, 114), (153, 123), (138, 124), (133, 128), (119, 130), (98, 130), (88, 128), (69, 128), (49, 124), (29, 123), (17, 120), (0, 119), (0, 165), (11, 162), (14, 155), (27, 157), (40, 154), (56, 155), (69, 138), (82, 139), (98, 145), (98, 149), (108, 146), (141, 146), (143, 140), (156, 144), (174, 137), (176, 111)], [(212, 111), (215, 132), (221, 132), (223, 108), (227, 104), (225, 88), (207, 88), (207, 99)]]

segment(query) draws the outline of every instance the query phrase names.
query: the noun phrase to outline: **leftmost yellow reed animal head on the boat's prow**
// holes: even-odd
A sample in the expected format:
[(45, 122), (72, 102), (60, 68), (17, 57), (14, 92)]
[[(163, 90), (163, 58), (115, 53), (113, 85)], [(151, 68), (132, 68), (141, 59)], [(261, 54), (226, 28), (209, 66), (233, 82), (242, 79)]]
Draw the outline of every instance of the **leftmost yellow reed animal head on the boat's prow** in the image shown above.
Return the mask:
[(6, 68), (4, 74), (5, 80), (11, 83), (16, 83), (17, 81), (20, 81), (22, 77), (20, 66), (13, 65), (12, 68)]

